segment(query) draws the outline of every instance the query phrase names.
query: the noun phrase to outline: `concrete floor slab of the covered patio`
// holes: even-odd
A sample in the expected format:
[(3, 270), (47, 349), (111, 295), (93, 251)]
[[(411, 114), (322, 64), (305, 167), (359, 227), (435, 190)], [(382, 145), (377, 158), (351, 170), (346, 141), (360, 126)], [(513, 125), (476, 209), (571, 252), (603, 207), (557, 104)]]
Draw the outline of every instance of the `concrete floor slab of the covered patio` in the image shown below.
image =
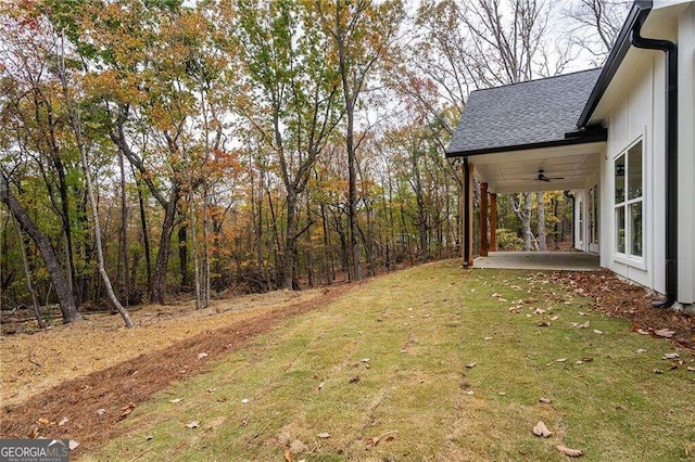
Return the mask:
[(601, 266), (598, 255), (585, 252), (491, 252), (473, 260), (473, 269), (486, 268), (593, 271)]

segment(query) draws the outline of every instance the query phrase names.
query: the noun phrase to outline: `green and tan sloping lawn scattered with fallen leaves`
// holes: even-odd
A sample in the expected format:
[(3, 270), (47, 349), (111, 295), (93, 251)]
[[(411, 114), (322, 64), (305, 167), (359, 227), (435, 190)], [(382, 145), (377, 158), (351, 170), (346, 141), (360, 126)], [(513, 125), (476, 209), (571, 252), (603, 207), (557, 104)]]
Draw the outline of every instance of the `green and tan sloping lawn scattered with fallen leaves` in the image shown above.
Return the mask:
[(427, 265), (280, 323), (87, 459), (687, 460), (693, 352), (669, 370), (675, 351), (542, 273)]

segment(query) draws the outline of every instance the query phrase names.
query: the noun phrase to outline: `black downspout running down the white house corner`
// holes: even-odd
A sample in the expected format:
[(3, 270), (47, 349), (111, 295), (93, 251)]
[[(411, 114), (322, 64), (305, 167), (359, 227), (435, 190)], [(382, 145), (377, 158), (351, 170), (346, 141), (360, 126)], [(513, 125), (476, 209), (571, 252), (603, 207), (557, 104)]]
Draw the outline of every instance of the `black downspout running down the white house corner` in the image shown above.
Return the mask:
[(666, 52), (666, 299), (653, 305), (668, 308), (678, 299), (678, 47), (644, 38), (641, 30), (637, 21), (630, 36), (633, 47)]

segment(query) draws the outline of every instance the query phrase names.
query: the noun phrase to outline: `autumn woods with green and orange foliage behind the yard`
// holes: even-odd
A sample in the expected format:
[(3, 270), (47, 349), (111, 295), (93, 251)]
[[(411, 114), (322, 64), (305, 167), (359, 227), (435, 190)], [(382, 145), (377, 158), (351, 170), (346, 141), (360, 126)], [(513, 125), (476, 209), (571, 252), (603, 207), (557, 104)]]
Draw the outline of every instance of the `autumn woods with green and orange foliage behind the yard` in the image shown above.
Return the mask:
[[(443, 150), (467, 94), (566, 69), (587, 24), (617, 21), (582, 4), (3, 4), (2, 308), (128, 324), (179, 293), (202, 308), (457, 257)], [(567, 248), (571, 213), (563, 192), (501, 195), (497, 242)]]

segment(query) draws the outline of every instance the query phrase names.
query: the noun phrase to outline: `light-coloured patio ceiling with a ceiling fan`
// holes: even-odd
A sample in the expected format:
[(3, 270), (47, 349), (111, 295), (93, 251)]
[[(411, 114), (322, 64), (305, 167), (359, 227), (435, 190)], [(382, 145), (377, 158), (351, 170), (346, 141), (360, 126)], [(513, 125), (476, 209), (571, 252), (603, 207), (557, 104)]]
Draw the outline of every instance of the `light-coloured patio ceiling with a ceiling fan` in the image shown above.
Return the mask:
[[(605, 142), (478, 154), (468, 157), (475, 176), (493, 193), (584, 189), (599, 169)], [(539, 170), (548, 178), (538, 181)]]

